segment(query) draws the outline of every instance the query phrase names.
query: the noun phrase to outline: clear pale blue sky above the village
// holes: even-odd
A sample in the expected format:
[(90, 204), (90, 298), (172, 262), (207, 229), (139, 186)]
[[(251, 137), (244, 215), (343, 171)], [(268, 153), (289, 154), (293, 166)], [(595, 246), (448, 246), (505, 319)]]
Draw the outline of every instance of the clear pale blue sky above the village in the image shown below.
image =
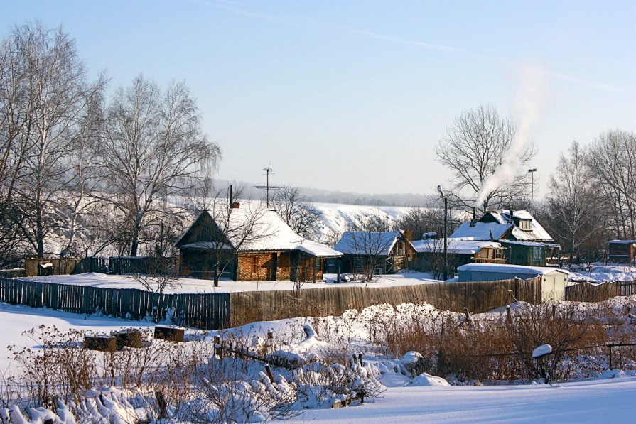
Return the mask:
[(636, 128), (635, 1), (3, 1), (62, 25), (110, 88), (185, 80), (220, 178), (354, 192), (434, 191), (434, 148), (478, 104), (523, 119), (519, 75), (544, 70), (531, 136), (543, 194), (561, 151)]

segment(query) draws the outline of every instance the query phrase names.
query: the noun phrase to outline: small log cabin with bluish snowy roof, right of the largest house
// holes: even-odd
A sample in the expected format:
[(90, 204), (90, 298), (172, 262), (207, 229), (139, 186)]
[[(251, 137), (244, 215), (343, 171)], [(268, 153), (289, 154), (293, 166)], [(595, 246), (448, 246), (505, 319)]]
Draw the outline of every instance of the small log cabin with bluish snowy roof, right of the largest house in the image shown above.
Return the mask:
[(375, 274), (397, 273), (408, 269), (416, 255), (413, 244), (401, 230), (347, 231), (333, 249), (343, 254), (341, 271), (345, 273), (368, 273), (370, 266)]

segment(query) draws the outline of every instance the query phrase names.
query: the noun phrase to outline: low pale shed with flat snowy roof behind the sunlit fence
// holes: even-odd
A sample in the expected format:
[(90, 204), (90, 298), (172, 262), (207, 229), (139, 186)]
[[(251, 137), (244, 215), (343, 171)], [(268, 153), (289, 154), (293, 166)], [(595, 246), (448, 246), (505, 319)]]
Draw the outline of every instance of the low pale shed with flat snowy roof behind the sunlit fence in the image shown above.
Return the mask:
[(541, 277), (541, 300), (563, 300), (568, 285), (568, 271), (543, 266), (499, 265), (494, 263), (468, 263), (457, 268), (458, 281), (496, 281), (512, 278)]

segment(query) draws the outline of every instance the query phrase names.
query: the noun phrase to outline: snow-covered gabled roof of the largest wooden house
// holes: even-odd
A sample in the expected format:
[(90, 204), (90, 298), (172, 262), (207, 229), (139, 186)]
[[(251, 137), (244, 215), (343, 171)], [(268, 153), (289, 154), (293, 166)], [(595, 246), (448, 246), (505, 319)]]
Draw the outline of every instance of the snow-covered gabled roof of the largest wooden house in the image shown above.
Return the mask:
[[(207, 214), (221, 232), (227, 234), (227, 243), (213, 240), (195, 241), (184, 244), (183, 241), (193, 226), (176, 243), (180, 249), (236, 249), (239, 252), (249, 251), (303, 251), (316, 257), (342, 256), (339, 251), (331, 249), (324, 244), (316, 243), (299, 236), (283, 221), (274, 210), (254, 210), (249, 207), (230, 210), (220, 210), (220, 213), (204, 211), (197, 219), (205, 219)], [(216, 217), (215, 217), (216, 215)], [(246, 232), (251, 232), (251, 237), (245, 237)]]

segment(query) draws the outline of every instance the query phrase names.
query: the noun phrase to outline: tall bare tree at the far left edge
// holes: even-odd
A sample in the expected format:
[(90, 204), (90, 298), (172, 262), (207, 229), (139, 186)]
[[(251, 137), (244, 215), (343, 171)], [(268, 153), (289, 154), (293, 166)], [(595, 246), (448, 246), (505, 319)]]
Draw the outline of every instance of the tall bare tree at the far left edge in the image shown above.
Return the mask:
[(58, 225), (56, 200), (74, 178), (87, 109), (105, 79), (87, 82), (75, 43), (41, 23), (14, 28), (0, 58), (2, 194), (12, 205), (3, 208), (3, 218), (43, 256), (45, 239)]

